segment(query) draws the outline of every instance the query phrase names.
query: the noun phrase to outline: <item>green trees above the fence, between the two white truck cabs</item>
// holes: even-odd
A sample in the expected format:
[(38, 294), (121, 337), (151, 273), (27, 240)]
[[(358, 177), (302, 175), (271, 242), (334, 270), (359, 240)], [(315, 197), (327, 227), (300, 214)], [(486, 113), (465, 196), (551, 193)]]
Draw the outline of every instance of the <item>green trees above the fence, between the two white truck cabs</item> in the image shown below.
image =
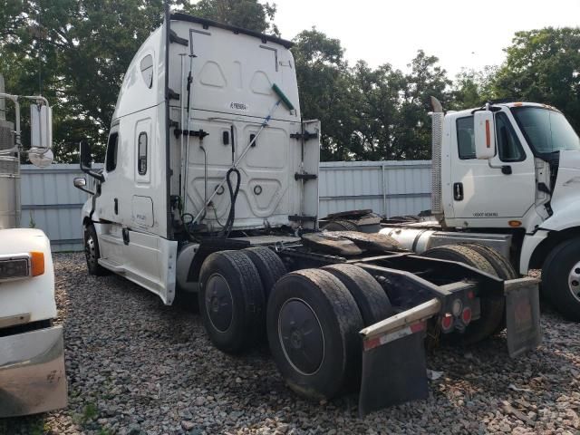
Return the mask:
[(428, 159), (430, 95), (448, 100), (438, 59), (419, 51), (411, 72), (384, 64), (349, 68), (340, 41), (316, 29), (295, 37), (304, 119), (323, 126), (321, 160)]

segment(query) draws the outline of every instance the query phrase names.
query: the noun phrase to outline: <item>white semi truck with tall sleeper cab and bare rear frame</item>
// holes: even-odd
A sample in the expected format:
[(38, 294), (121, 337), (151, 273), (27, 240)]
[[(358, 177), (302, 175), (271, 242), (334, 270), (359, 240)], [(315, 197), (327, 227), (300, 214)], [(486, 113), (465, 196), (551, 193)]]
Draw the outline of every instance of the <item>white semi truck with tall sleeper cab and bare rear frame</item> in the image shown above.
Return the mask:
[(474, 342), (507, 325), (510, 355), (534, 349), (537, 282), (498, 275), (496, 251), (449, 261), (317, 231), (320, 124), (301, 119), (291, 45), (166, 9), (125, 74), (104, 169), (81, 144), (89, 272), (165, 304), (197, 292), (218, 349), (267, 340), (294, 391), (360, 388), (362, 413), (426, 397), (427, 329)]

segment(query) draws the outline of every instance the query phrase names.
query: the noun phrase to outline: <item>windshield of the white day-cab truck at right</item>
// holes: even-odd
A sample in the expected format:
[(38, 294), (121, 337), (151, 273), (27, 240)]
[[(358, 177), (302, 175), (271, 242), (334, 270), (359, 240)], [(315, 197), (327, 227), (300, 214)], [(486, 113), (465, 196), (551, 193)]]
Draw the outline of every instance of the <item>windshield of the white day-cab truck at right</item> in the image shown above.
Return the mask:
[(559, 111), (530, 106), (511, 111), (534, 154), (580, 150), (578, 135)]

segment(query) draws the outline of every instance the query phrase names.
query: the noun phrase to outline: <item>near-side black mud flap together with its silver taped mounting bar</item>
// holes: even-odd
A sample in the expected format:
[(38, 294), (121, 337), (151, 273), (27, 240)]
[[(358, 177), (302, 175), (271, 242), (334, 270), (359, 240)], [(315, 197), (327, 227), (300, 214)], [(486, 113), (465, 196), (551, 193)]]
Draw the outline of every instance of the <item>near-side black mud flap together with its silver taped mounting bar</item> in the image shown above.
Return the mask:
[(387, 406), (427, 398), (426, 320), (438, 314), (440, 306), (434, 298), (361, 331), (361, 417)]

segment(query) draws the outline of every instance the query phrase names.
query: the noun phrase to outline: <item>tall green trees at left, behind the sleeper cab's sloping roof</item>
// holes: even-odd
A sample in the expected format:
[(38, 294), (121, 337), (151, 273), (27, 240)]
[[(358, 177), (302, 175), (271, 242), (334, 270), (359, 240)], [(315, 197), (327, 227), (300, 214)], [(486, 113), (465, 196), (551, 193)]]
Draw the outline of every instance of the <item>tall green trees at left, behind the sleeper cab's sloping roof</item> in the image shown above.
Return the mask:
[[(123, 74), (140, 44), (162, 23), (163, 0), (0, 2), (0, 71), (6, 89), (38, 93), (41, 73), (42, 92), (53, 103), (55, 160), (76, 160), (78, 142), (85, 137), (97, 145), (96, 159), (102, 160)], [(187, 13), (205, 11), (217, 20), (227, 16), (226, 22), (257, 31), (270, 28), (275, 14), (275, 6), (257, 0), (202, 0), (199, 5), (170, 0), (170, 5)]]

